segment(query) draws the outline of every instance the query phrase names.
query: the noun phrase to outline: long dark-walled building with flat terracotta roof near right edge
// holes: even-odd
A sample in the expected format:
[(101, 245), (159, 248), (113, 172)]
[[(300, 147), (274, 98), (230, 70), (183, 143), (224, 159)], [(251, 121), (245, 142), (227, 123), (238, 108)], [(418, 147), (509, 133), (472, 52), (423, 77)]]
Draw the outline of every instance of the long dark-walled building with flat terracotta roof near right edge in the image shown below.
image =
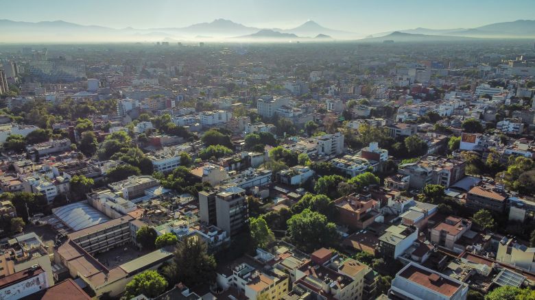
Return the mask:
[(474, 186), (466, 195), (466, 208), (490, 210), (503, 213), (506, 209), (506, 195), (485, 186)]

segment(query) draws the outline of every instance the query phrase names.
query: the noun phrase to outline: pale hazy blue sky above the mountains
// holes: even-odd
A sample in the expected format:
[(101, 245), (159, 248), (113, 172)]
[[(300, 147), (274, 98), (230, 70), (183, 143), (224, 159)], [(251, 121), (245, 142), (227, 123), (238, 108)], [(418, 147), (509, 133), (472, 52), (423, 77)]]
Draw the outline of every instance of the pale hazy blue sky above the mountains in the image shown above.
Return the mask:
[(0, 0), (0, 19), (108, 27), (185, 27), (226, 18), (254, 27), (324, 27), (372, 34), (535, 18), (534, 0)]

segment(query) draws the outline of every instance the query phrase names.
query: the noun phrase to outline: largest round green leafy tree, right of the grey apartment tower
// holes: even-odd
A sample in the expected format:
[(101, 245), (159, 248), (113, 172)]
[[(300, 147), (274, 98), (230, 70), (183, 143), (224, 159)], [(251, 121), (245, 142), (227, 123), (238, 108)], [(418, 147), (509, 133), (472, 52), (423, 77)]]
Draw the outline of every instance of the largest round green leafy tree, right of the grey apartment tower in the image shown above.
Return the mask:
[(326, 216), (308, 208), (289, 218), (287, 225), (290, 240), (305, 252), (331, 247), (338, 240), (334, 223), (329, 223)]

